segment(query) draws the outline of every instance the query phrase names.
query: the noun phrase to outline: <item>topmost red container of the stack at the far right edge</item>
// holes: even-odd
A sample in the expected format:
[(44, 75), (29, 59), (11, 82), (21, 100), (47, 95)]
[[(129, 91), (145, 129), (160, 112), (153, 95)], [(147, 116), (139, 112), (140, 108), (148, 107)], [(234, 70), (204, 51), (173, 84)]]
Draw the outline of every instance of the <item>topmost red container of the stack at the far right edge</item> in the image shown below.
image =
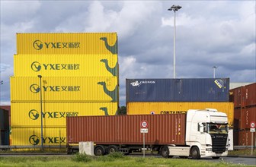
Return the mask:
[(245, 86), (245, 106), (256, 106), (256, 83)]

